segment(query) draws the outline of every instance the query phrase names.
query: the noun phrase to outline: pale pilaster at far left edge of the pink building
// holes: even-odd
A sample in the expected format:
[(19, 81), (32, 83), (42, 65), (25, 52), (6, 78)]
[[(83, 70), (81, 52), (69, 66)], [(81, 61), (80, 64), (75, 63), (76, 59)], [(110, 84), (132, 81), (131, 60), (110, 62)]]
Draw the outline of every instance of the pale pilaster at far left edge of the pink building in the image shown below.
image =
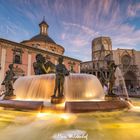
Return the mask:
[(5, 63), (6, 63), (6, 48), (2, 48), (1, 51), (1, 70), (0, 70), (0, 86), (5, 76)]

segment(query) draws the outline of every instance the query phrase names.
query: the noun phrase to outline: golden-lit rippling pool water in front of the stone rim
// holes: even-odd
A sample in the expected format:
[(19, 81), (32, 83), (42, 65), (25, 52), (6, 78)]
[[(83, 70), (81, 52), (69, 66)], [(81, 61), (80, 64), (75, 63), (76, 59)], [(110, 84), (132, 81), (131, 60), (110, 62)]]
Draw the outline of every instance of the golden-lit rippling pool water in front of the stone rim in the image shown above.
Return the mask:
[(1, 108), (0, 140), (139, 140), (140, 99), (132, 103), (130, 110), (78, 114)]

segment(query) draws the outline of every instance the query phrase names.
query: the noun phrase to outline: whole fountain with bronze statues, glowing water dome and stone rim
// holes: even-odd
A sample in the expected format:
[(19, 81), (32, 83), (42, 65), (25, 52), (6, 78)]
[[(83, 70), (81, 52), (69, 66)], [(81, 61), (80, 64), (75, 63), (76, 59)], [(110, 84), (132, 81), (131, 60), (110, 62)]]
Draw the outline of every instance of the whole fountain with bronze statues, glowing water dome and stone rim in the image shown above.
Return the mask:
[[(18, 78), (14, 85), (13, 64), (11, 64), (2, 83), (5, 86), (5, 92), (1, 95), (3, 100), (0, 101), (0, 106), (38, 109), (44, 107), (44, 102), (48, 100), (51, 107), (65, 103), (64, 110), (70, 112), (128, 108), (128, 102), (121, 100), (113, 92), (117, 66), (112, 60), (107, 64), (110, 75), (107, 80), (109, 87), (106, 100), (97, 77), (88, 74), (70, 74), (63, 64), (62, 56), (59, 57), (58, 64), (55, 66), (50, 61), (46, 62), (44, 57), (38, 54), (33, 64), (35, 76)], [(11, 100), (13, 97), (16, 97), (15, 100)], [(29, 98), (30, 101), (27, 101)]]

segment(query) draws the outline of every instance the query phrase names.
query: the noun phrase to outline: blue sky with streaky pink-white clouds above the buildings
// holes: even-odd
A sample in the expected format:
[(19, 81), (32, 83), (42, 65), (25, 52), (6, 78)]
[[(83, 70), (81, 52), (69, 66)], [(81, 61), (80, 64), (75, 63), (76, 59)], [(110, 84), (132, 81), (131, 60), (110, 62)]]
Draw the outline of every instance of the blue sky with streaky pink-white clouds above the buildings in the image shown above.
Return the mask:
[(140, 0), (0, 0), (0, 38), (32, 38), (43, 16), (66, 56), (90, 61), (100, 36), (110, 37), (113, 49), (140, 50)]

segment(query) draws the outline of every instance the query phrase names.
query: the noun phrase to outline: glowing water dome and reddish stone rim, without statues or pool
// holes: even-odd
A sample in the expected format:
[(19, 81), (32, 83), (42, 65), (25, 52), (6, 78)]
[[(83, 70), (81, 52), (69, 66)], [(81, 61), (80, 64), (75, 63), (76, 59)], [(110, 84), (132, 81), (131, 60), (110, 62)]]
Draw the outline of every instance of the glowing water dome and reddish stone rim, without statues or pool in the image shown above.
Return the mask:
[(0, 106), (16, 109), (89, 112), (128, 108), (125, 100), (104, 100), (104, 91), (96, 76), (70, 74), (65, 78), (63, 107), (51, 104), (55, 74), (20, 77), (14, 83), (16, 99), (0, 101)]

